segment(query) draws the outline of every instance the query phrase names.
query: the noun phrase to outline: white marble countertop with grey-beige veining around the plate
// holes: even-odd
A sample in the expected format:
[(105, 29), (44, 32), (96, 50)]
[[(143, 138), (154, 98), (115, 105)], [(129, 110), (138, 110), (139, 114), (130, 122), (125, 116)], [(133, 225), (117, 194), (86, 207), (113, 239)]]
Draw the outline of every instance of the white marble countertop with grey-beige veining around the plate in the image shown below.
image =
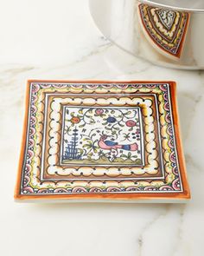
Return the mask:
[[(163, 69), (104, 38), (85, 0), (0, 1), (0, 255), (203, 255), (204, 73)], [(28, 79), (174, 80), (187, 205), (13, 201)]]

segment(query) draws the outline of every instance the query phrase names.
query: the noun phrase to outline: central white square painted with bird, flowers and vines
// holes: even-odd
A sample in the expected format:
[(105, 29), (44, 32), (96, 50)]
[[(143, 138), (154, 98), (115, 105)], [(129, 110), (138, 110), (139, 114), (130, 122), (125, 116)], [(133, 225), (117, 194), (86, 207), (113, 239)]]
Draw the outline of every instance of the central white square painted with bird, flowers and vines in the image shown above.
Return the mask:
[(61, 165), (144, 165), (139, 107), (64, 106), (61, 134)]

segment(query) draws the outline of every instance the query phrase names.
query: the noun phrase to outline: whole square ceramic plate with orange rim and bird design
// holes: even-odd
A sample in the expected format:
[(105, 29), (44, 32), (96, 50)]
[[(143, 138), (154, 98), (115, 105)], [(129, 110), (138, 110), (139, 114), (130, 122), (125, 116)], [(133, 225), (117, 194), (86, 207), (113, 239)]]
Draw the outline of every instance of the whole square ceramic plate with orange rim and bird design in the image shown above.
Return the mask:
[(29, 81), (15, 198), (188, 200), (175, 82)]

